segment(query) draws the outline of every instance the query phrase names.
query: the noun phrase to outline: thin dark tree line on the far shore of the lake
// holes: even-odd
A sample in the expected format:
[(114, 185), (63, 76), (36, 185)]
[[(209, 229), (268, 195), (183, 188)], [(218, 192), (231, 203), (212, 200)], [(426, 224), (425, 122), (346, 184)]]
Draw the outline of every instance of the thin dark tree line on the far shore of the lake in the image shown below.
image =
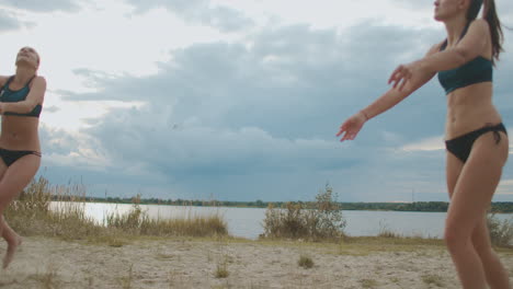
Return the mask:
[[(186, 200), (186, 199), (157, 199), (157, 198), (119, 198), (119, 197), (76, 197), (76, 196), (53, 196), (54, 201), (84, 201), (104, 204), (125, 205), (163, 205), (163, 206), (186, 206), (186, 207), (228, 207), (228, 208), (267, 208), (282, 207), (287, 201), (226, 201), (226, 200)], [(293, 201), (308, 205), (309, 201)], [(446, 212), (448, 203), (446, 201), (414, 201), (414, 203), (339, 203), (342, 210), (365, 210), (365, 211), (412, 211), (412, 212)], [(494, 201), (491, 204), (492, 213), (513, 213), (513, 201)]]

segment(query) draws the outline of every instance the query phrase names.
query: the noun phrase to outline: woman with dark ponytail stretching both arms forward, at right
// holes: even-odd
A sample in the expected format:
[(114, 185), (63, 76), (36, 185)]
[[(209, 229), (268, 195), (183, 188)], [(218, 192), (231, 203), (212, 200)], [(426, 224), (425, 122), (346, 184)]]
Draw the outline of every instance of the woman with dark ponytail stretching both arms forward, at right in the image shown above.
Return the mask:
[[(394, 88), (345, 120), (337, 136), (356, 137), (365, 122), (391, 108), (432, 79), (447, 96), (446, 174), (451, 205), (444, 239), (463, 288), (510, 288), (508, 271), (490, 244), (487, 209), (509, 154), (501, 116), (492, 104), (492, 67), (502, 50), (493, 0), (436, 0), (435, 20), (447, 39), (418, 61), (399, 66)], [(483, 9), (483, 18), (477, 19)]]

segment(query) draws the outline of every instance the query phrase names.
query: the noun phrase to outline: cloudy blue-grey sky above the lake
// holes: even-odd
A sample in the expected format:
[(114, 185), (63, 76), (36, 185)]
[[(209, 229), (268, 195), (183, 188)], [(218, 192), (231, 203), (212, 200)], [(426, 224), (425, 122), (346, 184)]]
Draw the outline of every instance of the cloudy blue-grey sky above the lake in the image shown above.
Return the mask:
[[(513, 26), (513, 2), (497, 5)], [(39, 174), (89, 195), (308, 200), (329, 183), (342, 201), (447, 200), (435, 79), (356, 140), (334, 136), (445, 37), (432, 14), (432, 0), (0, 0), (0, 74), (39, 51)], [(494, 103), (513, 131), (504, 33)], [(513, 201), (511, 161), (494, 200)]]

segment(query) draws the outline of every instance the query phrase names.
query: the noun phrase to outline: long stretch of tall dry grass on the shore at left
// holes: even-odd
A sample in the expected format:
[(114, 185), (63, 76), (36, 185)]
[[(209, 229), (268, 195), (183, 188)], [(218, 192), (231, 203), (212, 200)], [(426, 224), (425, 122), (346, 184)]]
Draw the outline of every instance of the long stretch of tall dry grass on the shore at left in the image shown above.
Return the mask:
[(219, 213), (179, 219), (151, 219), (137, 197), (130, 211), (111, 213), (105, 223), (86, 216), (83, 185), (52, 186), (44, 177), (34, 180), (4, 211), (5, 220), (22, 235), (58, 236), (64, 240), (90, 240), (122, 246), (126, 236), (215, 236), (227, 235), (226, 221)]

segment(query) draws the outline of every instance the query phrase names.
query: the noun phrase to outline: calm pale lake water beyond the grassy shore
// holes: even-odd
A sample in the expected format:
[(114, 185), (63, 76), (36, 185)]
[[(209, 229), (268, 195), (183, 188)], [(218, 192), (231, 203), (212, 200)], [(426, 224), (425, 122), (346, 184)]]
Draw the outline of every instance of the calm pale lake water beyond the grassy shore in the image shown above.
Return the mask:
[[(58, 203), (54, 203), (57, 206)], [(126, 213), (132, 205), (86, 203), (86, 215), (99, 222), (104, 221), (107, 213)], [(263, 233), (263, 208), (228, 208), (228, 207), (180, 207), (141, 205), (151, 218), (176, 218), (186, 216), (205, 216), (220, 213), (228, 223), (231, 235), (256, 239)], [(445, 212), (403, 212), (403, 211), (357, 211), (346, 210), (343, 216), (347, 226), (345, 233), (352, 236), (377, 235), (380, 230), (388, 229), (402, 235), (422, 235), (442, 238), (444, 232)], [(498, 213), (498, 219), (513, 218), (511, 213)]]

